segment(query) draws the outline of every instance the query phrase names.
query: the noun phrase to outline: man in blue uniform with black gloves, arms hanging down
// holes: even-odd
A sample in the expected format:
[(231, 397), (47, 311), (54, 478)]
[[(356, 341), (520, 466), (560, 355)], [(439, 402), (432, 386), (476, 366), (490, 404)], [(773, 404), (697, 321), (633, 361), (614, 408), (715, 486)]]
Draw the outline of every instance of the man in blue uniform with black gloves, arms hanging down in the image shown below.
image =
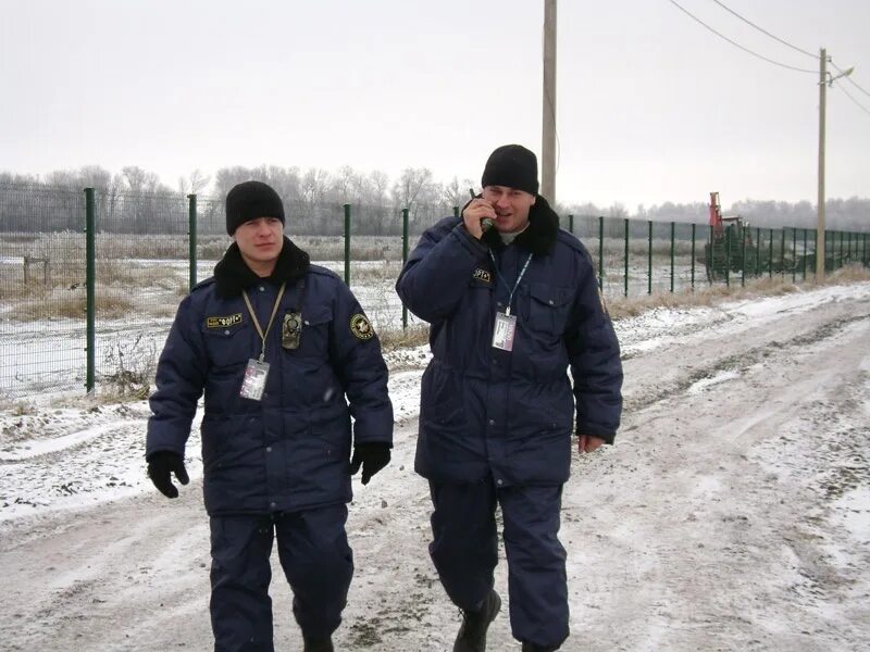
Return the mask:
[(160, 356), (148, 474), (169, 498), (178, 496), (172, 474), (187, 484), (185, 443), (204, 390), (214, 650), (273, 650), (276, 540), (304, 650), (331, 652), (353, 574), (350, 476), (362, 467), (365, 485), (390, 457), (387, 368), (348, 287), (284, 236), (271, 187), (234, 187), (226, 229), (235, 242), (182, 301)]

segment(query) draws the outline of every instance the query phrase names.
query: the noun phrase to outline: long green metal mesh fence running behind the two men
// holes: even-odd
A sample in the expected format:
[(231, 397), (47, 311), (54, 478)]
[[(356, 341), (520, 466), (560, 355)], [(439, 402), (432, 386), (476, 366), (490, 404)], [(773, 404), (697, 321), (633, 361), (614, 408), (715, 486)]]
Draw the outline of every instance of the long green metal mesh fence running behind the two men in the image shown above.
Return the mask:
[[(417, 234), (450, 210), (459, 212), (291, 203), (286, 231), (355, 290), (378, 286), (391, 296)], [(803, 280), (816, 271), (813, 229), (592, 215), (567, 215), (561, 225), (586, 244), (611, 297), (757, 276)], [(825, 231), (825, 267), (867, 265), (867, 240)], [(214, 198), (0, 185), (0, 400), (91, 391), (98, 381), (147, 388), (178, 301), (211, 275), (228, 243)], [(385, 319), (408, 325), (405, 309), (390, 310)]]

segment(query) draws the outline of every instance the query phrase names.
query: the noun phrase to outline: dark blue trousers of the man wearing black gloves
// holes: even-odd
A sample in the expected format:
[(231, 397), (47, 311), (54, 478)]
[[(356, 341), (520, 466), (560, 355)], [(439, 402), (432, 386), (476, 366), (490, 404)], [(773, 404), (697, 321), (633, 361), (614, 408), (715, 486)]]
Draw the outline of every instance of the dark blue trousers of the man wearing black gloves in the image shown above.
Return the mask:
[(212, 516), (211, 623), (215, 652), (272, 652), (272, 542), (293, 590), (302, 634), (328, 637), (341, 623), (353, 554), (347, 506), (264, 516)]

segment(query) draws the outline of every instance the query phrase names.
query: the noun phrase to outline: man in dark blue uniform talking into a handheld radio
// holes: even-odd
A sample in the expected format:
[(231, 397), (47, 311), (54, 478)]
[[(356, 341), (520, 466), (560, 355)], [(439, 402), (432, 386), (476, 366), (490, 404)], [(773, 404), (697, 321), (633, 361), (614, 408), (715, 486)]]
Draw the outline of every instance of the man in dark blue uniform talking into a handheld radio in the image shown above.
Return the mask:
[(396, 284), (431, 324), (415, 469), (434, 506), (430, 554), (463, 612), (453, 651), (485, 650), (501, 606), (498, 504), (512, 634), (550, 652), (569, 634), (558, 531), (571, 435), (581, 452), (612, 443), (622, 365), (592, 259), (537, 193), (535, 154), (496, 149), (482, 186), (423, 234)]

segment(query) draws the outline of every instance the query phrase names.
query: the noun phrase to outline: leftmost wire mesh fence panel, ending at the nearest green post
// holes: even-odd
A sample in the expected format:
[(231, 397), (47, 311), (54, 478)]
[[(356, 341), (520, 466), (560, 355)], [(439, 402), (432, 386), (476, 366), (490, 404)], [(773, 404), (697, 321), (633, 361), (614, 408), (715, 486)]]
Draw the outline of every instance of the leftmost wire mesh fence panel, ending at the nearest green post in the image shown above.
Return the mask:
[(0, 188), (0, 399), (85, 385), (85, 197)]

